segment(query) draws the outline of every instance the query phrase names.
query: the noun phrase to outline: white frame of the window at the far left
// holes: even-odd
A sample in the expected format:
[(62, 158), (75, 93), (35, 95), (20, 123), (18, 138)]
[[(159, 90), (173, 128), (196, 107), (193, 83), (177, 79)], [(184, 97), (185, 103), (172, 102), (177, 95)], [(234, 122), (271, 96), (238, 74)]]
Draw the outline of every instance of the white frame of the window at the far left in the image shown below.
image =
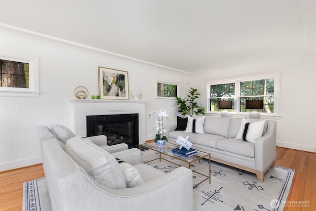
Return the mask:
[(0, 59), (29, 64), (29, 88), (0, 87), (0, 96), (39, 97), (39, 57), (0, 50)]

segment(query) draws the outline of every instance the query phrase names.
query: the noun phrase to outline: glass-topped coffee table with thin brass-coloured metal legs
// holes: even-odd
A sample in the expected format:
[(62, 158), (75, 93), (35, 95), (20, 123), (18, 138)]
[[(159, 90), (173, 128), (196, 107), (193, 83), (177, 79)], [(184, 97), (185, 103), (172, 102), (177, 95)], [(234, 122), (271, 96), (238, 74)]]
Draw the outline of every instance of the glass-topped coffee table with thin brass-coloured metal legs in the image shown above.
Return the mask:
[(152, 161), (155, 161), (155, 160), (158, 160), (158, 159), (159, 159), (159, 162), (161, 162), (161, 159), (162, 159), (162, 160), (165, 160), (165, 161), (170, 162), (172, 164), (175, 164), (177, 166), (181, 166), (179, 164), (171, 162), (170, 160), (162, 158), (161, 155), (167, 155), (167, 156), (170, 156), (172, 158), (178, 159), (180, 161), (186, 162), (186, 163), (189, 164), (189, 169), (191, 169), (191, 164), (192, 163), (194, 163), (196, 161), (200, 161), (200, 159), (202, 159), (202, 158), (208, 160), (208, 164), (209, 164), (208, 165), (208, 175), (205, 175), (203, 173), (197, 172), (196, 170), (193, 170), (193, 172), (195, 172), (197, 174), (200, 174), (202, 176), (205, 176), (205, 178), (202, 181), (200, 181), (199, 183), (193, 185), (193, 188), (196, 188), (199, 184), (201, 184), (202, 182), (206, 181), (207, 179), (209, 179), (209, 184), (211, 184), (211, 155), (210, 155), (210, 153), (201, 152), (201, 151), (197, 150), (197, 152), (198, 152), (197, 155), (194, 155), (194, 156), (191, 156), (191, 157), (181, 156), (181, 155), (172, 153), (172, 150), (174, 148), (179, 148), (179, 145), (171, 144), (171, 143), (168, 143), (168, 142), (165, 143), (164, 146), (159, 146), (159, 147), (156, 145), (155, 142), (149, 142), (149, 143), (145, 143), (145, 144), (140, 144), (139, 145), (139, 149), (141, 149), (142, 147), (144, 147), (145, 149), (154, 150), (154, 151), (159, 153), (159, 158), (147, 161), (147, 162), (145, 162), (145, 164), (149, 163), (149, 162), (152, 162)]

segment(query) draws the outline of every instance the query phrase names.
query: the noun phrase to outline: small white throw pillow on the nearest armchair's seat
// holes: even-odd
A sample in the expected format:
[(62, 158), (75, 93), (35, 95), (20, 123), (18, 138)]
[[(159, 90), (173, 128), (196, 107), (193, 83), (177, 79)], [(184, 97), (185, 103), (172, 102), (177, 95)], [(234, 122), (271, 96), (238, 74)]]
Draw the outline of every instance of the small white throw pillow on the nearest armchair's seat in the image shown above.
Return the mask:
[(144, 184), (143, 178), (141, 177), (139, 171), (135, 167), (118, 158), (117, 160), (120, 169), (122, 169), (123, 171), (127, 188), (133, 188), (138, 185)]

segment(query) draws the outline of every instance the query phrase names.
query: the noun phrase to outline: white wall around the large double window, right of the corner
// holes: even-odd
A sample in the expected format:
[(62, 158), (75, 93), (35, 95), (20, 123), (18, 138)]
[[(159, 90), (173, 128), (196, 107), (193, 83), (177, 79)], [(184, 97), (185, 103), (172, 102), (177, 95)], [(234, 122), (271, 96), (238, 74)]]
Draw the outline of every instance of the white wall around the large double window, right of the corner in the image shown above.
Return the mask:
[(191, 86), (201, 93), (199, 102), (205, 105), (206, 81), (266, 72), (280, 73), (281, 117), (276, 119), (277, 146), (316, 152), (315, 52), (195, 74)]

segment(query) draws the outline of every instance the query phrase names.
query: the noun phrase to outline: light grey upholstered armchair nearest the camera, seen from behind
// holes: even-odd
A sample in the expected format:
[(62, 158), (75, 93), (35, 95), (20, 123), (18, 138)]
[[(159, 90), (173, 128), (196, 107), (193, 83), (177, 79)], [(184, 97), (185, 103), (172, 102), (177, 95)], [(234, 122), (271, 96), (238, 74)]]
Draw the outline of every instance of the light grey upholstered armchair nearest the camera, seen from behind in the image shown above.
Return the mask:
[[(142, 164), (139, 149), (110, 154), (89, 139), (72, 137), (64, 145), (47, 127), (39, 127), (38, 133), (53, 211), (173, 211), (175, 208), (181, 211), (193, 210), (191, 169), (180, 167), (165, 174), (149, 165)], [(76, 145), (79, 146), (77, 151)], [(96, 161), (100, 164), (101, 161), (99, 158), (94, 159), (93, 156), (99, 154), (106, 156), (107, 172), (108, 168), (111, 168), (109, 172), (112, 173), (119, 173), (121, 170), (117, 167), (114, 169), (113, 165), (118, 165), (115, 159), (117, 163), (113, 161), (114, 157), (126, 161), (137, 169), (143, 184), (131, 188), (114, 188), (98, 182), (98, 178), (89, 175), (89, 171), (84, 169), (86, 166), (82, 164), (84, 159), (80, 150), (84, 151), (86, 148), (88, 156), (91, 155), (93, 158), (92, 162)], [(75, 162), (76, 159), (79, 163)], [(108, 180), (110, 178), (106, 178), (106, 182)]]

